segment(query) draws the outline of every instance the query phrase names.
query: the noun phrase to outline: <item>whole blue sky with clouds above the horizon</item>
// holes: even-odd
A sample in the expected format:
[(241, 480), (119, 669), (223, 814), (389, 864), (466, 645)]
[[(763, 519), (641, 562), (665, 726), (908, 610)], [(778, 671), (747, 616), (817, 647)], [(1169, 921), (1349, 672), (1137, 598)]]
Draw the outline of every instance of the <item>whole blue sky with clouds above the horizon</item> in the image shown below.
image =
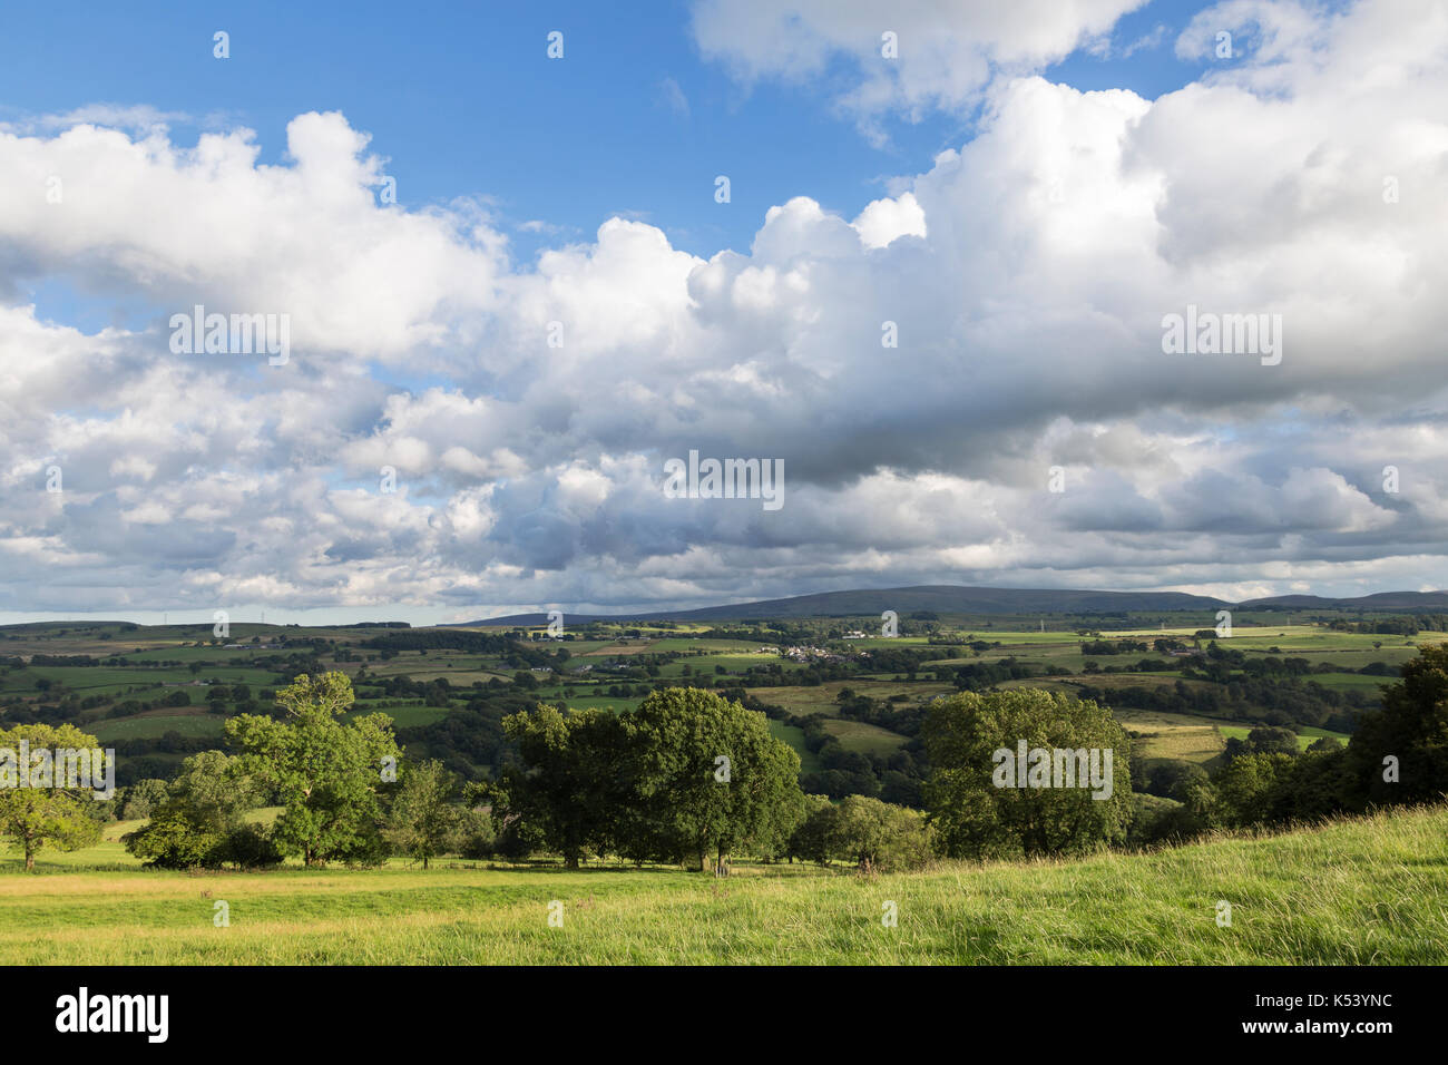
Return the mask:
[(0, 622), (1445, 588), (1445, 104), (1442, 0), (9, 10)]

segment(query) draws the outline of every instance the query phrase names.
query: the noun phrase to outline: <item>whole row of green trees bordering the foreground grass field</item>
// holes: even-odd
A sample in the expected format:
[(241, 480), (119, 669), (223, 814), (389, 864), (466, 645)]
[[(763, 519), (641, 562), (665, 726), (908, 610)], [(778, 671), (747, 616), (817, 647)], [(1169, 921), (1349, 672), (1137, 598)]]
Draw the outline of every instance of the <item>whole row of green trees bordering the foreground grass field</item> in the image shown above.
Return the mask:
[[(492, 778), (466, 784), (436, 761), (407, 761), (385, 714), (343, 722), (353, 698), (345, 674), (298, 677), (277, 698), (279, 717), (227, 720), (232, 753), (198, 752), (169, 784), (148, 781), (119, 800), (149, 817), (126, 836), (132, 853), (168, 868), (549, 853), (569, 866), (614, 856), (727, 871), (749, 855), (891, 869), (933, 858), (1079, 855), (1448, 794), (1448, 645), (1420, 648), (1347, 746), (1325, 740), (1297, 753), (1289, 730), (1260, 726), (1234, 740), (1211, 775), (1135, 765), (1129, 736), (1095, 700), (960, 691), (919, 723), (922, 810), (807, 794), (798, 755), (766, 716), (702, 688), (659, 690), (617, 714), (520, 703), (498, 726), (510, 756)], [(0, 732), (0, 751), (22, 739), (32, 749), (94, 746), (74, 726), (20, 724)], [(1105, 794), (1002, 785), (999, 753), (1021, 745), (1109, 751), (1114, 780)], [(1171, 790), (1176, 803), (1144, 819), (1132, 778)], [(281, 807), (271, 826), (248, 816), (262, 804)], [(84, 790), (0, 787), (0, 835), (30, 864), (45, 846), (94, 842), (103, 806)]]

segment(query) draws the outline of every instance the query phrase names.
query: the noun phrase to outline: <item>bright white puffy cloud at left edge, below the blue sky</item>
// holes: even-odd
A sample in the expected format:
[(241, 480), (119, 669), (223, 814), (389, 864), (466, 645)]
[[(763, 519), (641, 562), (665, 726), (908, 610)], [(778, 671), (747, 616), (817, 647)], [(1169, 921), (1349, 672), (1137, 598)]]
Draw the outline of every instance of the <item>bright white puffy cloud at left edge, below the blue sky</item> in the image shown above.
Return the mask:
[(384, 207), (381, 161), (339, 113), (287, 128), (291, 165), (249, 130), (178, 148), (81, 123), (0, 132), (0, 241), (16, 274), (64, 274), (158, 306), (290, 314), (304, 349), (395, 356), (487, 313), (502, 238), (476, 210)]

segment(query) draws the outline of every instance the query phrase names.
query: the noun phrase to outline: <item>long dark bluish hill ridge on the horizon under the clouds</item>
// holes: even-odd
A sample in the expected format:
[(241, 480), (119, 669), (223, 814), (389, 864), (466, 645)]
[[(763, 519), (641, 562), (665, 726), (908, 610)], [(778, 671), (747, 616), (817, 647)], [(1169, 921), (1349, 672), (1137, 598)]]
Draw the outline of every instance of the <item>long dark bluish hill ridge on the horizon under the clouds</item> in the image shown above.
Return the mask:
[[(1319, 596), (1273, 596), (1232, 603), (1182, 591), (1082, 591), (1073, 588), (975, 588), (954, 584), (924, 584), (912, 588), (860, 588), (791, 596), (753, 603), (731, 603), (699, 610), (654, 610), (640, 614), (568, 614), (569, 625), (589, 622), (730, 622), (740, 619), (846, 617), (893, 610), (901, 617), (918, 610), (940, 614), (1090, 614), (1151, 613), (1173, 610), (1402, 610), (1448, 611), (1448, 591), (1380, 591), (1358, 598)], [(546, 625), (547, 614), (508, 614), (460, 626)]]

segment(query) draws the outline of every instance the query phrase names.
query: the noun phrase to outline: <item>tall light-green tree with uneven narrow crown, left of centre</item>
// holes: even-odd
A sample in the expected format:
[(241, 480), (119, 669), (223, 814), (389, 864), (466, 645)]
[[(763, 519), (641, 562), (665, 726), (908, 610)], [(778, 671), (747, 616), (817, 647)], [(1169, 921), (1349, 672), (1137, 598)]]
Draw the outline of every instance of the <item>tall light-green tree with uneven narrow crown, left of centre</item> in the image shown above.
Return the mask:
[(343, 672), (297, 677), (277, 701), (287, 710), (284, 720), (242, 714), (226, 723), (248, 772), (284, 806), (277, 843), (307, 865), (381, 862), (382, 759), (400, 756), (392, 719), (337, 720), (352, 706)]

